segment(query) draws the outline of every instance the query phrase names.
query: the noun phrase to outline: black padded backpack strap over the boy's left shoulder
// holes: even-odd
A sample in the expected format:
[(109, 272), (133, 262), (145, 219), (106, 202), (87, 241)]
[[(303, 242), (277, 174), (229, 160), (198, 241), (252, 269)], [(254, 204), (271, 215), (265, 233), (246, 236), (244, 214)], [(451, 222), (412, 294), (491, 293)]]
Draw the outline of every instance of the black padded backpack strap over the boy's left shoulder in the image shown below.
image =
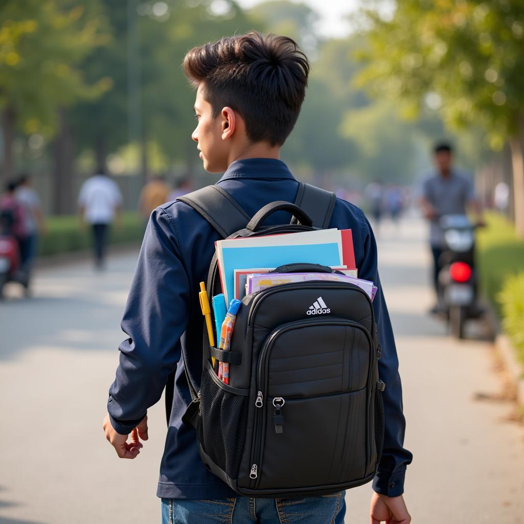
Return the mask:
[(251, 217), (239, 206), (232, 196), (218, 185), (208, 185), (177, 200), (188, 204), (200, 213), (216, 231), (227, 238), (235, 231), (246, 227)]

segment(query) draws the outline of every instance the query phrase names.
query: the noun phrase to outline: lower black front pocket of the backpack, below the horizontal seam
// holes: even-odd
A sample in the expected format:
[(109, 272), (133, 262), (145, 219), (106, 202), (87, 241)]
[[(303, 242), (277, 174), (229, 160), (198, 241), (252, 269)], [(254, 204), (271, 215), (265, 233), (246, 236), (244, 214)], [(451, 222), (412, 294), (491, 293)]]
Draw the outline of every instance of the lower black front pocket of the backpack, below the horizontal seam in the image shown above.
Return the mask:
[(264, 418), (257, 488), (292, 488), (297, 478), (303, 487), (335, 485), (365, 476), (365, 389), (270, 398)]

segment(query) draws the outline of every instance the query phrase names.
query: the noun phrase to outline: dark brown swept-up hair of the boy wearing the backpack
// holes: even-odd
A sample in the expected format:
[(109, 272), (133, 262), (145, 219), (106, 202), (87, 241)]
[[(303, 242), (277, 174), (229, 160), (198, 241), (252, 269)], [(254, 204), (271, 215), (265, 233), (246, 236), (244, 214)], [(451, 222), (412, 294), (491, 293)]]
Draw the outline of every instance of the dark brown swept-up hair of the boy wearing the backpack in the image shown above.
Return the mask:
[(203, 84), (213, 117), (229, 106), (244, 118), (249, 140), (285, 142), (309, 74), (308, 58), (294, 40), (256, 31), (224, 37), (191, 49), (183, 65), (194, 86)]

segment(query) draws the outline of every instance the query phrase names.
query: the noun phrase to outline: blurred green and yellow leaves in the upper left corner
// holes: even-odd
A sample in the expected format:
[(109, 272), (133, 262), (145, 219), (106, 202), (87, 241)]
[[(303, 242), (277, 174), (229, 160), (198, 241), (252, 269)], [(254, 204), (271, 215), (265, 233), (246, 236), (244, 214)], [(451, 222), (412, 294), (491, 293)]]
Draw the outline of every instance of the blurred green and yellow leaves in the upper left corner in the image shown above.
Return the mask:
[(96, 2), (10, 0), (0, 9), (0, 108), (14, 111), (24, 133), (51, 135), (56, 109), (93, 99), (108, 79), (84, 81), (79, 62), (104, 42)]

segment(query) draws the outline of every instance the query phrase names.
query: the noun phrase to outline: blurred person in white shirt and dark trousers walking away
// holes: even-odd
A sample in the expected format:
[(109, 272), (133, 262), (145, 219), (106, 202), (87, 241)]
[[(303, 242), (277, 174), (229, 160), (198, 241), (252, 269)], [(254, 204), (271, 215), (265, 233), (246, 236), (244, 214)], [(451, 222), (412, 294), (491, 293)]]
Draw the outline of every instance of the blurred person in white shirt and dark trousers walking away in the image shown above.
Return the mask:
[(121, 220), (122, 193), (114, 180), (107, 177), (104, 167), (88, 178), (78, 197), (81, 224), (89, 224), (93, 232), (95, 264), (104, 266), (107, 231), (113, 220)]

